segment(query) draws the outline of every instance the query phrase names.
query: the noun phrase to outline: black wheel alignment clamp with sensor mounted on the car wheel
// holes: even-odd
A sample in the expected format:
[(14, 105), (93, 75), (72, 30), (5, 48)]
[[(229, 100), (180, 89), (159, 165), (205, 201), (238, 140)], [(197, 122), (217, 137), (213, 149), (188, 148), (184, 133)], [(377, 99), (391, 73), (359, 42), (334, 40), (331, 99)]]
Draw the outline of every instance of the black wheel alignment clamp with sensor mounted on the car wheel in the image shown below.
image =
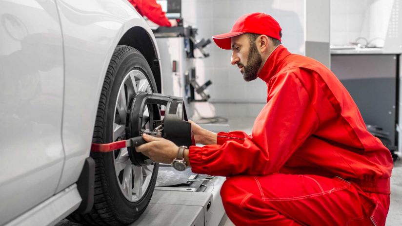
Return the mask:
[[(147, 133), (168, 139), (178, 146), (195, 145), (191, 123), (187, 121), (183, 98), (139, 92), (132, 99), (130, 111), (127, 113), (127, 139)], [(163, 119), (161, 119), (159, 105), (166, 106)], [(147, 114), (144, 114), (144, 109), (147, 109)], [(144, 125), (148, 125), (148, 127), (144, 127)], [(137, 152), (135, 148), (128, 148), (128, 154), (136, 166), (147, 166), (153, 163), (147, 156)]]

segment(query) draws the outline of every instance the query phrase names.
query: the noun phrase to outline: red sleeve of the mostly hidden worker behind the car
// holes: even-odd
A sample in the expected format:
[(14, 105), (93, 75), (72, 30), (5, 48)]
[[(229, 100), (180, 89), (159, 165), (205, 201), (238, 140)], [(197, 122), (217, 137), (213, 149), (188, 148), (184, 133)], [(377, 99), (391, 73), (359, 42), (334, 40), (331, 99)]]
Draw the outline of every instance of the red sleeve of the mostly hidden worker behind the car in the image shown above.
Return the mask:
[(156, 0), (128, 0), (141, 16), (145, 16), (159, 26), (170, 27), (171, 24)]

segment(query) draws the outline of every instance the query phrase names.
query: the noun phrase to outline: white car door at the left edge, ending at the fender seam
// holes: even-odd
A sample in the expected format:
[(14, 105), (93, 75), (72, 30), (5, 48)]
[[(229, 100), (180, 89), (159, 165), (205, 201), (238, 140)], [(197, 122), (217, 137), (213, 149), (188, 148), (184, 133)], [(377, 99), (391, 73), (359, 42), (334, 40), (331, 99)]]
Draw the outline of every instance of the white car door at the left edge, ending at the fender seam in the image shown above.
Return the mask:
[(0, 225), (55, 193), (63, 79), (55, 0), (0, 0)]

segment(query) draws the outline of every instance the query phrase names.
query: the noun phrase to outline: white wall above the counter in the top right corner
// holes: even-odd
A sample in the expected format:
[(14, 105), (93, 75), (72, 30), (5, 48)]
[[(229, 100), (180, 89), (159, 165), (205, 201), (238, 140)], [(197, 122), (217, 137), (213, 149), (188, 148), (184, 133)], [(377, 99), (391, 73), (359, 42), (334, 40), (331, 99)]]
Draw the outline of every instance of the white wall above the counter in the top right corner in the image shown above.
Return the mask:
[[(331, 0), (331, 45), (363, 37), (382, 47), (394, 0)], [(358, 41), (365, 44), (364, 40)]]

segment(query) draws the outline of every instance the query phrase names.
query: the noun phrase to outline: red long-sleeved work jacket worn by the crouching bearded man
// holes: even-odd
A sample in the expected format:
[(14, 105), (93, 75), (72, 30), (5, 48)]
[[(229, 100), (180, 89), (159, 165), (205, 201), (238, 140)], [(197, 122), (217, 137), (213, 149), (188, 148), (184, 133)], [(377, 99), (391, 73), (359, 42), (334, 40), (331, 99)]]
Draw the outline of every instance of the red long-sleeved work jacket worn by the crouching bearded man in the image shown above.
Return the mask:
[(280, 45), (259, 77), (268, 97), (253, 133), (220, 132), (217, 145), (191, 146), (193, 172), (339, 176), (367, 192), (390, 193), (391, 154), (329, 69)]

